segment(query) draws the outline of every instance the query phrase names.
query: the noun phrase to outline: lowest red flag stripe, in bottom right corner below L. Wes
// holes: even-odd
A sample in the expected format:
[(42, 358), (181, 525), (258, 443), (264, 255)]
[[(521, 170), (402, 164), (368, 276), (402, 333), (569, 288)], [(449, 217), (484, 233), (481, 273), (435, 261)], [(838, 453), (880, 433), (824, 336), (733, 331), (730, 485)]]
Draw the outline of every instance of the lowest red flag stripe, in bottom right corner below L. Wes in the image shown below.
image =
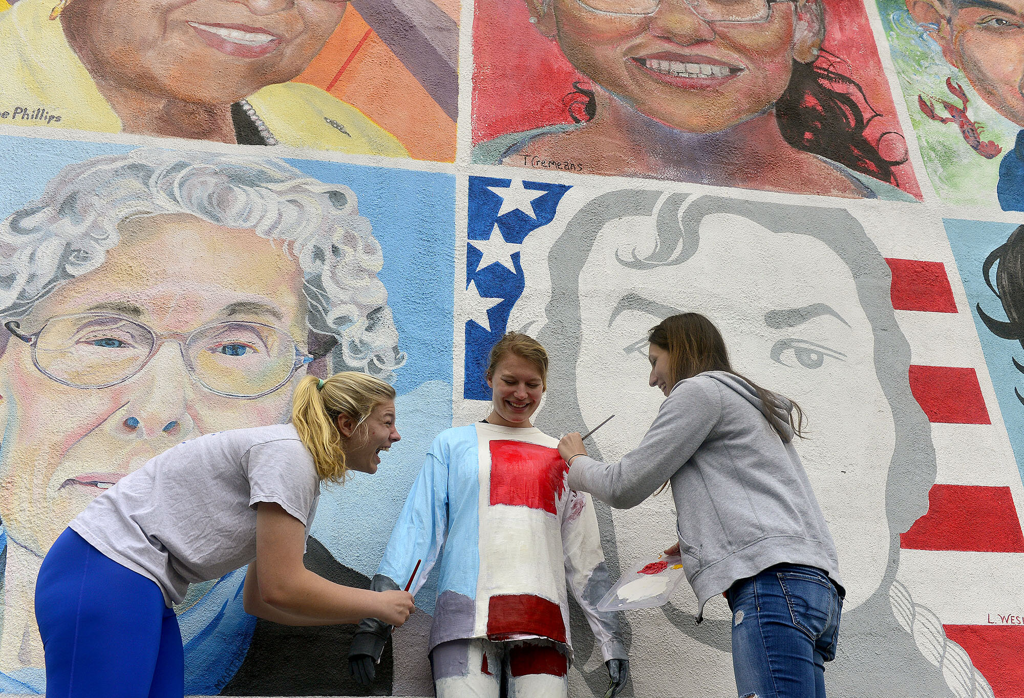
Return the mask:
[[(1020, 614), (1021, 610), (1017, 609)], [(1016, 616), (1017, 623), (1022, 618)], [(996, 621), (998, 622), (998, 621)], [(1024, 625), (943, 625), (992, 687), (995, 698), (1024, 696)]]

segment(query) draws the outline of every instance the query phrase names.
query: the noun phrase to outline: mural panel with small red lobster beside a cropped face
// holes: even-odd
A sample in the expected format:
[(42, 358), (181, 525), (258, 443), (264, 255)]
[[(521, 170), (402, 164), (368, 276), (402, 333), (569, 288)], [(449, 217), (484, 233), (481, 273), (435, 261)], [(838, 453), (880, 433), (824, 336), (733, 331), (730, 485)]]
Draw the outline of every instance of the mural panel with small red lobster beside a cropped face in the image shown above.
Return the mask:
[(1024, 2), (878, 0), (878, 7), (938, 194), (1024, 211), (1016, 147), (1024, 127)]

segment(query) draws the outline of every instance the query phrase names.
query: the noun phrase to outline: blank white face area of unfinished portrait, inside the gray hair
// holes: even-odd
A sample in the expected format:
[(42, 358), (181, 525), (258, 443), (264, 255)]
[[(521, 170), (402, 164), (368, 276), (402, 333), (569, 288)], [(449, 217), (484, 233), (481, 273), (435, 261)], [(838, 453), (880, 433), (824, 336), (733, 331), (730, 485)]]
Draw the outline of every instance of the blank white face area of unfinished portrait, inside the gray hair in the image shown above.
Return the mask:
[[(846, 600), (847, 608), (856, 608), (878, 588), (889, 560), (885, 496), (895, 425), (876, 375), (871, 325), (852, 273), (824, 243), (736, 216), (709, 216), (699, 232), (685, 262), (648, 269), (620, 263), (622, 243), (630, 238), (626, 230), (609, 225), (598, 236), (580, 278), (582, 340), (588, 349), (577, 364), (577, 395), (584, 422), (597, 424), (616, 413), (620, 430), (643, 434), (660, 403), (645, 385), (647, 332), (680, 312), (714, 318), (737, 370), (793, 398), (809, 416), (810, 438), (797, 447), (840, 564), (857, 570)], [(612, 275), (623, 279), (622, 287), (602, 281)], [(739, 299), (732, 290), (743, 278), (774, 280), (765, 293)], [(625, 386), (641, 408), (616, 408), (618, 391), (601, 389), (609, 369), (612, 382)], [(632, 446), (614, 432), (594, 438), (609, 460)], [(652, 516), (643, 510), (660, 508), (663, 503), (650, 499), (614, 516), (632, 529)], [(630, 517), (637, 520), (626, 523)]]

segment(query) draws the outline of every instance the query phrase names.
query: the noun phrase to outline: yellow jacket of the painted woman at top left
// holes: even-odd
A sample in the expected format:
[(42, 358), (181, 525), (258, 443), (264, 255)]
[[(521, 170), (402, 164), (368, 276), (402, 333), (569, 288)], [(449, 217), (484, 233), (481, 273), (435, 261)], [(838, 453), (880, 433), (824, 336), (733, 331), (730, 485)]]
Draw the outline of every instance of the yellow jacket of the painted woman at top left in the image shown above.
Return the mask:
[[(53, 2), (20, 0), (0, 14), (0, 124), (120, 133), (121, 119), (72, 50), (60, 21), (49, 19)], [(408, 157), (394, 136), (312, 85), (269, 85), (248, 100), (284, 145)]]

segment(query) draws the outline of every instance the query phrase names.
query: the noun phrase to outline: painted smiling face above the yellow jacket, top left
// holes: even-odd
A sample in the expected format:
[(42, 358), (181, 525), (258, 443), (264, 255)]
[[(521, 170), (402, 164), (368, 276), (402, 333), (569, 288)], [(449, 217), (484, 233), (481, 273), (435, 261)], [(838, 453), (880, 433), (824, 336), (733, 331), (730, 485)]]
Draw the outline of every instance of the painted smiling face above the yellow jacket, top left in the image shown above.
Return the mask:
[[(102, 85), (201, 104), (295, 78), (341, 21), (345, 0), (71, 0), (65, 34)], [(204, 67), (196, 71), (196, 66)]]

